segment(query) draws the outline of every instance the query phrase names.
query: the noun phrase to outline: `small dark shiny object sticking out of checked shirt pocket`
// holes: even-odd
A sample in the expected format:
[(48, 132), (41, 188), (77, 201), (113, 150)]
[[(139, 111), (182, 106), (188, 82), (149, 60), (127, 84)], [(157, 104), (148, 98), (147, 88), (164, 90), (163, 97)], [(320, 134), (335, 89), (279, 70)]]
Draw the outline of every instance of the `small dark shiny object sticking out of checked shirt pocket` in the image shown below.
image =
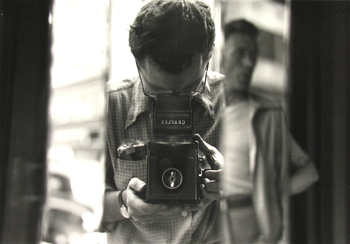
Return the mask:
[(146, 159), (147, 145), (140, 140), (126, 140), (117, 149), (121, 160), (138, 161)]

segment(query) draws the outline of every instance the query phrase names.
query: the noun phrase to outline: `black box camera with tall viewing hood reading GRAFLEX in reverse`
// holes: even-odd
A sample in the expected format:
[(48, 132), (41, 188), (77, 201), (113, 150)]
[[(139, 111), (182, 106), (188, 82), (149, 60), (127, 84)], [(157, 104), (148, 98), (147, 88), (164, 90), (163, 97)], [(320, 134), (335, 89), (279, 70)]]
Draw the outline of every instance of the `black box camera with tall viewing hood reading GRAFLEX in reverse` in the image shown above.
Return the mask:
[(193, 141), (189, 96), (159, 95), (147, 145), (146, 202), (197, 205), (205, 156)]

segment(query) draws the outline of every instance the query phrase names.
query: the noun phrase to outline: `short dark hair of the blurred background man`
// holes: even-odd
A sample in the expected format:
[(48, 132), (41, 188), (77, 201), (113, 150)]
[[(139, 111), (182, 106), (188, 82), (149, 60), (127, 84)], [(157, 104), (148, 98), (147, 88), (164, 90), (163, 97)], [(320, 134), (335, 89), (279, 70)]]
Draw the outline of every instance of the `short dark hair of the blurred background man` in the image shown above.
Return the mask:
[(225, 40), (233, 33), (244, 33), (253, 38), (258, 35), (258, 28), (245, 19), (232, 20), (223, 26)]

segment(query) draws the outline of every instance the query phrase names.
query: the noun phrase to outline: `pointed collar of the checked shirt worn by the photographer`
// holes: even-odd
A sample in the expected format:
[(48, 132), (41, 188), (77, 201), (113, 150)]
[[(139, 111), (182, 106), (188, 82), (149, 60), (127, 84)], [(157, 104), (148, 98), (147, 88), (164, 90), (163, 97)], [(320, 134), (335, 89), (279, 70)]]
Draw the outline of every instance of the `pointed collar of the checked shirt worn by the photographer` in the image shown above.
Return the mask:
[[(214, 106), (211, 99), (211, 90), (209, 86), (210, 78), (207, 76), (207, 82), (205, 84), (205, 90), (202, 94), (194, 96), (194, 101), (201, 104), (205, 110), (208, 112), (209, 116), (214, 119)], [(128, 115), (126, 118), (125, 129), (132, 125), (137, 116), (145, 111), (152, 111), (153, 101), (154, 99), (151, 97), (145, 96), (142, 85), (140, 81), (140, 77), (134, 81), (133, 93), (131, 98), (131, 105), (128, 111)]]

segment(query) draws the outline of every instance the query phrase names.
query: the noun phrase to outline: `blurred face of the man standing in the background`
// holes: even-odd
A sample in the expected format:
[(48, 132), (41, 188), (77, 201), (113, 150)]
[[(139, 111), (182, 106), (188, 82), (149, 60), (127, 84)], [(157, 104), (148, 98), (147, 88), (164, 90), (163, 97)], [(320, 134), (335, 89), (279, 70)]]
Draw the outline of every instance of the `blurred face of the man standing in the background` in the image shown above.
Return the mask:
[(250, 86), (257, 57), (257, 43), (247, 34), (234, 33), (225, 41), (223, 71), (225, 90), (247, 90)]

